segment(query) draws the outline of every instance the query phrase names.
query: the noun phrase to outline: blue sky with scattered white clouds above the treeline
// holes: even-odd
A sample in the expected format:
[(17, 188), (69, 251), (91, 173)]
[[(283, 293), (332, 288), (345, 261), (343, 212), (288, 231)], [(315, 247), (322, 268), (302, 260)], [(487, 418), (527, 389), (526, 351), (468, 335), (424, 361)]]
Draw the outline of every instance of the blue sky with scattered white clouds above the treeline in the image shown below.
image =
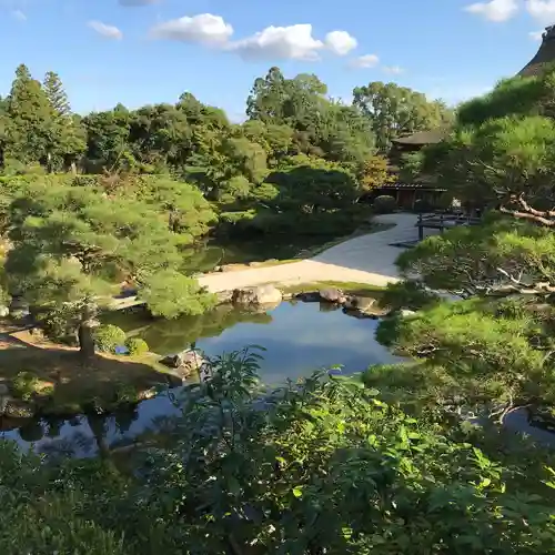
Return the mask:
[(552, 22), (555, 0), (0, 0), (0, 94), (23, 62), (81, 113), (190, 91), (238, 120), (279, 65), (345, 100), (382, 80), (455, 103), (516, 73)]

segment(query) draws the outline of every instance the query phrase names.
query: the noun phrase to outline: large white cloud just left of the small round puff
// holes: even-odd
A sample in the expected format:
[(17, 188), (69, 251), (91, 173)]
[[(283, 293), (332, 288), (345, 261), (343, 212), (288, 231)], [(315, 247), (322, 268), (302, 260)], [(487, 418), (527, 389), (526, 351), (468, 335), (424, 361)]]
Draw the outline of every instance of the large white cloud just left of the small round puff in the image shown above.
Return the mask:
[(245, 59), (317, 60), (324, 43), (312, 37), (312, 26), (266, 27), (264, 30), (230, 44)]

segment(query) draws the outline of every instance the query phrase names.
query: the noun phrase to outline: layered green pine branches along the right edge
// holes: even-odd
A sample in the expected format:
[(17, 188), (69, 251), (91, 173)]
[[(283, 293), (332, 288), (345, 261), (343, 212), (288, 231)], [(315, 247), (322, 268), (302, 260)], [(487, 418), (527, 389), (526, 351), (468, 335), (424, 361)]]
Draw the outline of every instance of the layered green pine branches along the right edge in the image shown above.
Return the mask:
[(548, 72), (501, 82), (463, 105), (452, 135), (425, 152), (423, 165), (447, 191), (487, 214), (398, 259), (408, 278), (464, 301), (394, 319), (381, 332), (440, 364), (478, 411), (551, 406), (555, 395), (552, 81)]

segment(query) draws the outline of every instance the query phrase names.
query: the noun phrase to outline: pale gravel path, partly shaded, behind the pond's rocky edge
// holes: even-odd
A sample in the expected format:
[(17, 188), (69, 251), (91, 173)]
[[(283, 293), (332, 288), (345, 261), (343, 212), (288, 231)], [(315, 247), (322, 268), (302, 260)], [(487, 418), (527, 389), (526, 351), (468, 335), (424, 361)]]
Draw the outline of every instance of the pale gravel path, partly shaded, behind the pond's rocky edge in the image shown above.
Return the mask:
[(395, 259), (402, 251), (391, 246), (391, 243), (415, 240), (416, 218), (414, 214), (376, 216), (376, 222), (394, 223), (395, 228), (351, 239), (313, 259), (209, 274), (200, 278), (199, 283), (213, 293), (264, 283), (293, 285), (317, 281), (359, 282), (383, 286), (400, 281)]

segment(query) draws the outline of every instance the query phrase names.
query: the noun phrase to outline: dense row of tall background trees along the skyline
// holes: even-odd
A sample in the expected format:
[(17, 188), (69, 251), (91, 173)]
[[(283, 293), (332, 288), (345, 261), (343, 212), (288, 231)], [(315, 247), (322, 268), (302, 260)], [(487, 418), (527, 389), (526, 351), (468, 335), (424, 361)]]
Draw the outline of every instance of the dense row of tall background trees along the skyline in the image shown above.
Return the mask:
[[(184, 92), (175, 103), (118, 104), (81, 118), (71, 112), (57, 73), (48, 72), (41, 85), (21, 65), (0, 107), (0, 167), (4, 174), (40, 167), (119, 178), (172, 174), (212, 203), (222, 233), (296, 232), (299, 211), (319, 213), (324, 223), (314, 219), (306, 229), (322, 233), (355, 224), (337, 209), (391, 180), (376, 148), (443, 123), (450, 111), (392, 83), (356, 89), (347, 104), (329, 98), (314, 74), (286, 78), (271, 68), (255, 80), (246, 115), (244, 123), (230, 123), (222, 110)], [(331, 186), (327, 170), (350, 178)], [(286, 184), (285, 175), (301, 182)], [(314, 194), (323, 198), (314, 203)], [(294, 213), (284, 212), (285, 204)]]

